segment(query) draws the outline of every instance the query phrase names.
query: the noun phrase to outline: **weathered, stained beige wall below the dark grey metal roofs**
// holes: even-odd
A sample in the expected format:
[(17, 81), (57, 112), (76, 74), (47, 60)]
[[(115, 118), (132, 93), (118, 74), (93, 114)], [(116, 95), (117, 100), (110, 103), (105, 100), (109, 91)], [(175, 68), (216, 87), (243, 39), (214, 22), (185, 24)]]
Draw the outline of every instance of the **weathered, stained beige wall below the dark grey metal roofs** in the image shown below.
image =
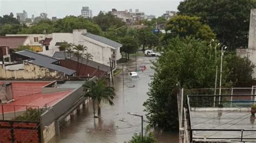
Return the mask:
[[(65, 78), (65, 74), (56, 70), (33, 65), (29, 62), (22, 63), (24, 68), (19, 70), (8, 70), (0, 65), (0, 78), (19, 78), (19, 79), (37, 79), (37, 78)], [(18, 65), (17, 67), (21, 67)], [(12, 67), (14, 68), (14, 67)]]

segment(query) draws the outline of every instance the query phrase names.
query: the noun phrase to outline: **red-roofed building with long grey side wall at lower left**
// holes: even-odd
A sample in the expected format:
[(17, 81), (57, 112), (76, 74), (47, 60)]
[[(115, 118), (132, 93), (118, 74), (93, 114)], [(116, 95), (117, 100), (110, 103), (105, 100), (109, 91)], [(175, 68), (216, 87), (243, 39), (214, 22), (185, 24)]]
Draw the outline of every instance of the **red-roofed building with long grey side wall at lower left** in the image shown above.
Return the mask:
[[(49, 142), (59, 134), (60, 123), (70, 120), (88, 103), (89, 99), (82, 96), (84, 82), (0, 81), (0, 99), (4, 99), (0, 102), (0, 142), (14, 138), (17, 142)], [(30, 108), (40, 117), (34, 121), (17, 119)], [(36, 117), (35, 113), (27, 116)]]

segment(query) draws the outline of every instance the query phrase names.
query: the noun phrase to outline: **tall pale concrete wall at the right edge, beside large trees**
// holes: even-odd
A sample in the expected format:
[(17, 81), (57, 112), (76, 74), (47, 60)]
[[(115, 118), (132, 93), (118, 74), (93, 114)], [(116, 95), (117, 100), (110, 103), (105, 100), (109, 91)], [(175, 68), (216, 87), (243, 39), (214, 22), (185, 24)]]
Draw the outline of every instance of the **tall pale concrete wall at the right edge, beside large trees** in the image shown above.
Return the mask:
[[(256, 9), (251, 10), (250, 31), (248, 41), (248, 59), (256, 65)], [(256, 67), (253, 69), (253, 78), (256, 78)]]

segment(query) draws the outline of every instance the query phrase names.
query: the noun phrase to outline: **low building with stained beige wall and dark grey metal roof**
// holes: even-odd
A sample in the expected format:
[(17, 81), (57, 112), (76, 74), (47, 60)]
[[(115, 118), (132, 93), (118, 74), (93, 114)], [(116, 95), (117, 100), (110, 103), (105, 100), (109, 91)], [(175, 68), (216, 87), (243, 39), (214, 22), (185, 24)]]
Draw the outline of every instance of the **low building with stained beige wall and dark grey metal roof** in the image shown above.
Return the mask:
[(63, 79), (76, 75), (75, 70), (59, 66), (58, 59), (32, 51), (12, 52), (10, 59), (10, 62), (0, 65), (0, 78)]

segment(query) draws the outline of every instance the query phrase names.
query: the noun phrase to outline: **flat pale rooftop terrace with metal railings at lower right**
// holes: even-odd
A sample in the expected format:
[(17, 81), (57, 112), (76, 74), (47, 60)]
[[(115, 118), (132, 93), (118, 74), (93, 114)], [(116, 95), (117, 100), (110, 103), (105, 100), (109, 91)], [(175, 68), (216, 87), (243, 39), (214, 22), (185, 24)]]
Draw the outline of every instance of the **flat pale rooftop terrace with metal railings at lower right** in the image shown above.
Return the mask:
[[(256, 141), (254, 95), (188, 95), (193, 141)], [(221, 102), (219, 102), (221, 99)]]

